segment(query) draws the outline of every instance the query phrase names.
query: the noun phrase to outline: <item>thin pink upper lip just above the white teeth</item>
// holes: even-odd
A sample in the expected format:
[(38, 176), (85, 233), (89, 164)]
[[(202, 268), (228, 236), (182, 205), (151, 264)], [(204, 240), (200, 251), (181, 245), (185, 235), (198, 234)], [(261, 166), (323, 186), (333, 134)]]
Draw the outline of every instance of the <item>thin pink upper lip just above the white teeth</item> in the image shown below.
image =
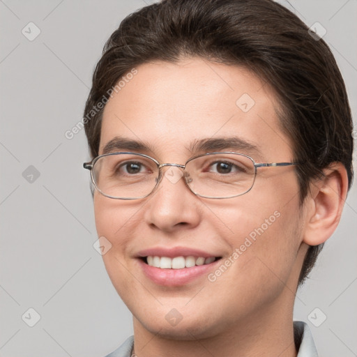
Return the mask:
[(173, 248), (153, 247), (145, 250), (140, 250), (139, 252), (137, 252), (138, 258), (149, 257), (149, 256), (169, 257), (169, 258), (181, 257), (181, 256), (183, 257), (193, 256), (193, 257), (204, 257), (204, 258), (222, 257), (221, 255), (216, 255), (215, 253), (205, 252), (204, 250), (188, 248), (188, 247), (173, 247)]

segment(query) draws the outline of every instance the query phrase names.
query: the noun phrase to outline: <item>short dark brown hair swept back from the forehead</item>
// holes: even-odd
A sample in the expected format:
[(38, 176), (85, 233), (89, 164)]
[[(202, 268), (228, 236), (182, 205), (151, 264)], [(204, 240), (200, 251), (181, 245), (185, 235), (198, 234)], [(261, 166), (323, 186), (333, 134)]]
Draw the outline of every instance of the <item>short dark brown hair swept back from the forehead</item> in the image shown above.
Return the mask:
[[(108, 90), (133, 67), (182, 56), (250, 68), (278, 94), (280, 124), (293, 143), (301, 204), (311, 179), (332, 162), (352, 171), (352, 119), (340, 70), (324, 40), (272, 0), (167, 0), (126, 17), (110, 36), (93, 74), (85, 130), (98, 155), (102, 110)], [(298, 280), (310, 273), (322, 249), (310, 246)]]

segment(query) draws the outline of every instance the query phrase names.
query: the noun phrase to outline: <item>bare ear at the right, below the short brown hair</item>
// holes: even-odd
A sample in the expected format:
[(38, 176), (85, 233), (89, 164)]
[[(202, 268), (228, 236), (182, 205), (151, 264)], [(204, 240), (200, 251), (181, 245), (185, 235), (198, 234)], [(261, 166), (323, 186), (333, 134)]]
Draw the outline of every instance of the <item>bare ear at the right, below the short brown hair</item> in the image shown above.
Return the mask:
[(341, 162), (333, 162), (323, 170), (324, 177), (310, 184), (303, 241), (319, 245), (335, 231), (347, 197), (347, 171)]

